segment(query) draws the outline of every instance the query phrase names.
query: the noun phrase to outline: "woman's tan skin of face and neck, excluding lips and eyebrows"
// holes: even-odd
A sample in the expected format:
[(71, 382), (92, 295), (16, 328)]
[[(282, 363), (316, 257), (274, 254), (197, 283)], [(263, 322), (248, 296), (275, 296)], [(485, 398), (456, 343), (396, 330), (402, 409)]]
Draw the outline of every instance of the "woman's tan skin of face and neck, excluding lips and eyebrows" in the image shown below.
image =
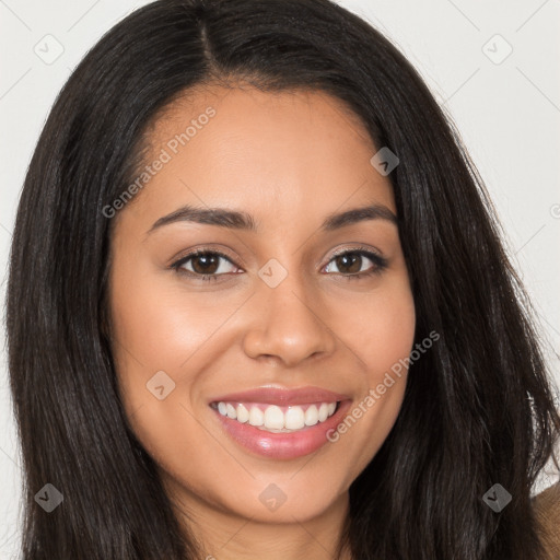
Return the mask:
[[(322, 92), (198, 90), (155, 122), (147, 163), (209, 106), (215, 116), (116, 218), (110, 311), (126, 412), (185, 526), (189, 513), (202, 558), (334, 558), (348, 489), (395, 423), (406, 372), (339, 441), (294, 459), (241, 447), (208, 401), (313, 385), (354, 407), (409, 355), (416, 317), (396, 224), (320, 231), (326, 217), (351, 208), (396, 214), (390, 183), (370, 163), (377, 149), (362, 125)], [(248, 212), (259, 231), (177, 221), (148, 233), (186, 203)], [(207, 269), (196, 258), (183, 269), (198, 278), (171, 267), (209, 245), (231, 259), (218, 258), (218, 281), (200, 280)], [(349, 280), (376, 268), (368, 257), (337, 266), (337, 249), (358, 247), (387, 267)], [(271, 258), (288, 271), (276, 288), (258, 276)], [(159, 371), (176, 384), (163, 400), (147, 389)], [(259, 501), (270, 483), (287, 497), (273, 512)]]

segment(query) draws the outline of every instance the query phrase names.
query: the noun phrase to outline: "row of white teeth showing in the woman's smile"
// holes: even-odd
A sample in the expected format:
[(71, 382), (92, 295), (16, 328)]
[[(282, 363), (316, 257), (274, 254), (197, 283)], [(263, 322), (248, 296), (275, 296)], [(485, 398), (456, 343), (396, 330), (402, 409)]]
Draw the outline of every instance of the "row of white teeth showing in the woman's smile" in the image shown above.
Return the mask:
[(336, 402), (322, 402), (318, 408), (316, 405), (310, 405), (305, 411), (303, 407), (289, 406), (283, 412), (276, 405), (268, 405), (262, 411), (258, 406), (249, 408), (241, 402), (236, 405), (218, 402), (218, 411), (222, 416), (237, 420), (241, 423), (248, 422), (250, 425), (270, 432), (291, 432), (315, 425), (332, 416), (336, 408)]

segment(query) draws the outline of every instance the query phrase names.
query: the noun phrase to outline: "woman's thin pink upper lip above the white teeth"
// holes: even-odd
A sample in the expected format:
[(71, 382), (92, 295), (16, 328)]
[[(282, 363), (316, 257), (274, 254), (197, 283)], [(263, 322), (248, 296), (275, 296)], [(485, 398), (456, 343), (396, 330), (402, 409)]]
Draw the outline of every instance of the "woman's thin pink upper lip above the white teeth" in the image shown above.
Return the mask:
[(262, 402), (266, 405), (305, 405), (307, 402), (335, 402), (350, 397), (320, 387), (280, 388), (272, 386), (230, 393), (210, 400), (210, 402)]

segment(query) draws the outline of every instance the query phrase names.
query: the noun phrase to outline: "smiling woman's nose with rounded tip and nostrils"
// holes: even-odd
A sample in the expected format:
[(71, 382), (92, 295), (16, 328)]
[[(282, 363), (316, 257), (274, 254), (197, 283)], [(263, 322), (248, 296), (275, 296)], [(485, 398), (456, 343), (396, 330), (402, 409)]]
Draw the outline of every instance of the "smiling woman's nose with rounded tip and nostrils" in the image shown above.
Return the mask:
[(256, 290), (254, 319), (243, 341), (248, 357), (273, 357), (290, 368), (334, 352), (337, 337), (327, 324), (327, 307), (301, 275), (290, 272), (275, 288), (259, 280)]

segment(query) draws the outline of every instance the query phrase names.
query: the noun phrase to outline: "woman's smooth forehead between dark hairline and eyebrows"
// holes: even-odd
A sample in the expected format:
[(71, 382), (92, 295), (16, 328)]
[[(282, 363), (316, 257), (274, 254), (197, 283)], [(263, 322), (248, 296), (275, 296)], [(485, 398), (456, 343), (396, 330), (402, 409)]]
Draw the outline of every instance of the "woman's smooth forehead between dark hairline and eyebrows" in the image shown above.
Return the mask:
[(164, 162), (139, 170), (147, 180), (131, 206), (147, 220), (182, 203), (283, 224), (359, 203), (395, 211), (390, 182), (370, 163), (377, 149), (368, 130), (325, 92), (194, 90), (159, 116), (147, 141), (142, 165)]

